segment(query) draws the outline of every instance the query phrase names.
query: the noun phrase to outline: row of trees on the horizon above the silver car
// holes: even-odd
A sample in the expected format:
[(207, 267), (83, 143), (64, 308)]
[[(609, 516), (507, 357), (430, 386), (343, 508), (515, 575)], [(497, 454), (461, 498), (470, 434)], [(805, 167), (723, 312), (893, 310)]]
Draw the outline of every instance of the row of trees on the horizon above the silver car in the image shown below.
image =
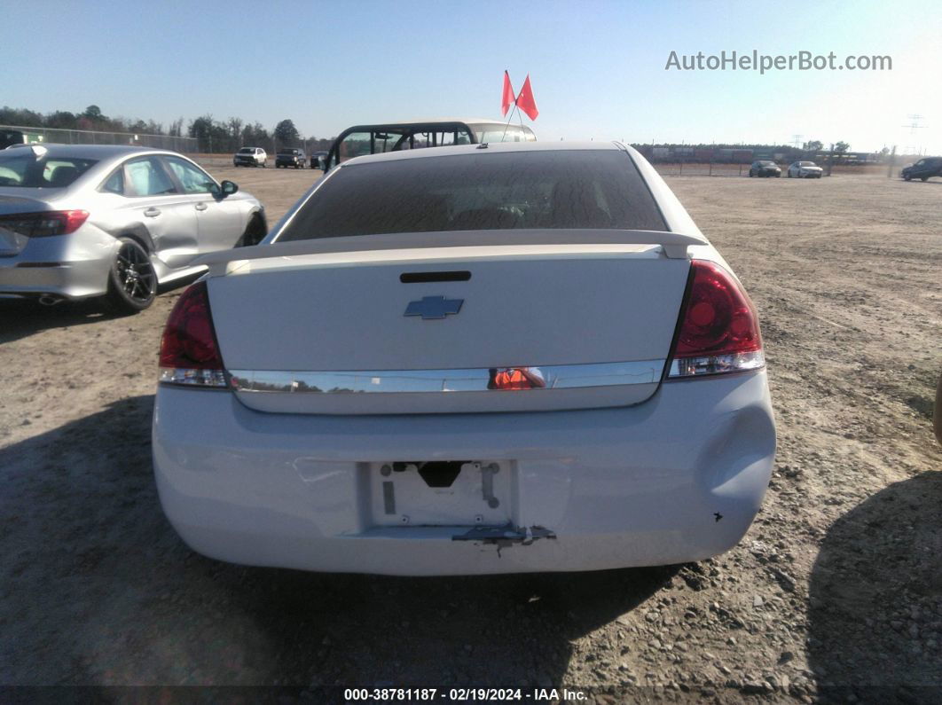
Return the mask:
[(298, 147), (306, 152), (326, 151), (330, 149), (333, 137), (302, 137), (292, 120), (281, 120), (273, 130), (268, 130), (261, 122), (248, 122), (241, 118), (216, 120), (207, 113), (187, 121), (173, 120), (164, 128), (163, 122), (154, 120), (130, 120), (128, 118), (109, 118), (102, 113), (98, 105), (89, 105), (82, 112), (55, 110), (42, 114), (28, 108), (12, 108), (4, 105), (0, 108), (0, 124), (23, 127), (44, 127), (58, 130), (92, 130), (97, 132), (122, 132), (140, 135), (165, 135), (173, 137), (194, 137), (199, 140), (199, 151), (207, 153), (235, 152), (242, 147), (261, 147), (274, 151), (284, 147)]

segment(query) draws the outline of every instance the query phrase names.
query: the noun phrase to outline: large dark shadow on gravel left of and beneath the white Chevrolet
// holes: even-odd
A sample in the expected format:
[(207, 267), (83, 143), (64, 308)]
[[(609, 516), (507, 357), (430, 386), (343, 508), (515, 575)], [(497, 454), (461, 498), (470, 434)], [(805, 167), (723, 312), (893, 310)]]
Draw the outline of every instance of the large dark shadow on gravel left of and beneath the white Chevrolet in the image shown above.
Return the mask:
[(617, 686), (619, 648), (573, 641), (677, 579), (677, 567), (398, 578), (203, 558), (160, 509), (153, 404), (124, 399), (0, 449), (0, 681), (558, 687), (578, 658)]

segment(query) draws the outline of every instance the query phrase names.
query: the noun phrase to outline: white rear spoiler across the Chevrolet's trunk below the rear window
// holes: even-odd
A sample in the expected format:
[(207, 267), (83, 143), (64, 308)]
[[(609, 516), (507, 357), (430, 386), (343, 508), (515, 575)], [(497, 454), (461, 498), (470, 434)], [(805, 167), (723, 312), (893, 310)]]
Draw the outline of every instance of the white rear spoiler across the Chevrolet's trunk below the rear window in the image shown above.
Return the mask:
[(659, 245), (667, 257), (685, 259), (690, 245), (707, 245), (702, 235), (646, 230), (486, 230), (448, 232), (388, 232), (379, 235), (317, 237), (251, 248), (210, 252), (193, 262), (222, 274), (224, 264), (268, 257), (365, 252), (377, 249), (474, 248), (502, 245)]

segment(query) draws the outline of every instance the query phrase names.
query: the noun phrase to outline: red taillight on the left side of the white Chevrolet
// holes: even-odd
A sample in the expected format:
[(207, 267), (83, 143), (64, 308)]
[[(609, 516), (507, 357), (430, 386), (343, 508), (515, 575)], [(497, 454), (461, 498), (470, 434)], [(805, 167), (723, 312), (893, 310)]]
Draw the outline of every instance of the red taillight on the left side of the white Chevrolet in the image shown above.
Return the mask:
[(197, 281), (177, 299), (160, 341), (160, 381), (225, 387), (206, 282)]

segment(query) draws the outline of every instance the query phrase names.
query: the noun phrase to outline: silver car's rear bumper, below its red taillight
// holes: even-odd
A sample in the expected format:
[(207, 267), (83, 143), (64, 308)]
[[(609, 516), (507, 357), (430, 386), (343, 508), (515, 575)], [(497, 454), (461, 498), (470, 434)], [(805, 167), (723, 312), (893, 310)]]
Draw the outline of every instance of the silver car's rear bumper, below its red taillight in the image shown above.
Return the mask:
[(0, 257), (0, 296), (102, 296), (118, 241), (86, 225), (68, 235), (31, 238)]

